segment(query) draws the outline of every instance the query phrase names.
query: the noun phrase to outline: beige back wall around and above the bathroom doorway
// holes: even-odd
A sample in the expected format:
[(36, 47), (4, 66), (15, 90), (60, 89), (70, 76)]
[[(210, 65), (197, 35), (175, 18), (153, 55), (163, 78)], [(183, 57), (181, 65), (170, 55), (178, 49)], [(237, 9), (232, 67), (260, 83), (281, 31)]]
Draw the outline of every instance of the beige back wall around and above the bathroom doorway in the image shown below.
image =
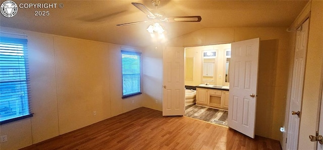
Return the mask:
[[(234, 41), (241, 41), (246, 39), (252, 39), (260, 37), (260, 54), (262, 53), (262, 62), (264, 68), (262, 70), (266, 73), (262, 73), (262, 77), (259, 81), (262, 81), (262, 85), (258, 85), (258, 107), (261, 111), (257, 109), (256, 113), (256, 134), (264, 137), (269, 137), (272, 139), (280, 140), (282, 133), (280, 132), (280, 127), (284, 124), (284, 114), (286, 106), (286, 95), (287, 95), (287, 82), (289, 77), (289, 51), (288, 42), (289, 37), (286, 32), (286, 28), (206, 28), (198, 30), (196, 32), (175, 38), (170, 40), (165, 46), (177, 46), (177, 47), (192, 47), (192, 46), (203, 46), (203, 45), (213, 45), (213, 44), (223, 44), (231, 43)], [(261, 46), (263, 44), (263, 46)], [(274, 44), (274, 45), (271, 45)], [(264, 46), (266, 45), (266, 46)], [(266, 48), (269, 46), (270, 48)], [(263, 47), (263, 48), (262, 48)], [(271, 49), (272, 48), (272, 49)], [(144, 52), (151, 51), (152, 49), (145, 49)], [(145, 57), (153, 57), (154, 61), (149, 61), (150, 68), (153, 69), (154, 66), (160, 67), (160, 70), (156, 73), (161, 73), (162, 71), (162, 54), (161, 50), (158, 49), (158, 55), (153, 53), (145, 53)], [(268, 55), (267, 55), (268, 54)], [(266, 62), (267, 60), (270, 60)], [(151, 64), (154, 63), (155, 64)], [(266, 66), (273, 68), (273, 71), (266, 70)], [(261, 66), (259, 66), (261, 67)], [(145, 69), (149, 69), (145, 68)], [(260, 69), (260, 70), (261, 70)], [(270, 81), (266, 81), (270, 79)], [(149, 97), (145, 97), (143, 105), (148, 108), (159, 108), (161, 110), (161, 104), (155, 104), (154, 98), (161, 101), (162, 93), (162, 77), (156, 76), (154, 80), (150, 80), (147, 85), (154, 85), (153, 93), (146, 94)], [(274, 83), (271, 83), (274, 82)], [(272, 93), (266, 91), (273, 91)], [(149, 101), (149, 103), (146, 103)], [(158, 106), (156, 106), (158, 105)]]

